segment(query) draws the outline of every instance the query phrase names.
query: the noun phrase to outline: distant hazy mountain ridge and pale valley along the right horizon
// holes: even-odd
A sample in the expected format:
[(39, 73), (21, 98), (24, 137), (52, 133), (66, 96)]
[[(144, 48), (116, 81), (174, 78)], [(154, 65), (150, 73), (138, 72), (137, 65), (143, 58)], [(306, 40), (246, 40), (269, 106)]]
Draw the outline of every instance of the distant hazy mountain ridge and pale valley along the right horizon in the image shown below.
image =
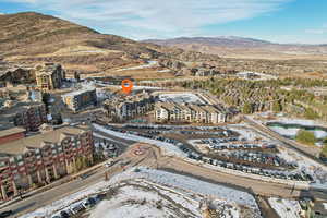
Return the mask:
[(270, 41), (235, 36), (181, 37), (149, 39), (161, 46), (178, 47), (225, 58), (246, 59), (327, 59), (327, 45), (274, 44)]

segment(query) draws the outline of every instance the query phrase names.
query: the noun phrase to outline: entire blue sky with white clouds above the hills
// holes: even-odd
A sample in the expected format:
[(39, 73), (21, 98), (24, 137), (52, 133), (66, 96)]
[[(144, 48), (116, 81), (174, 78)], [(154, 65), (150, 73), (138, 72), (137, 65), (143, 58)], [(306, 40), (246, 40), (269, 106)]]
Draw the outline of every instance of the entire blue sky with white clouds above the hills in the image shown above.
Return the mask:
[(325, 0), (0, 0), (0, 13), (23, 11), (133, 39), (232, 35), (327, 44)]

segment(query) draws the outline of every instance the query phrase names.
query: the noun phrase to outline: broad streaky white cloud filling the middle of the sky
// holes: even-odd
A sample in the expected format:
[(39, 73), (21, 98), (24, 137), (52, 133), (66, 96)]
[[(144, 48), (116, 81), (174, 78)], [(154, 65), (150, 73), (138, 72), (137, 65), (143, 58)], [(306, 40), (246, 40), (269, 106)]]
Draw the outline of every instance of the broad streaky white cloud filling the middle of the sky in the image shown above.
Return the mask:
[[(0, 2), (3, 0), (0, 0)], [(5, 0), (4, 0), (5, 1)], [(7, 0), (8, 1), (8, 0)], [(174, 37), (201, 34), (202, 27), (255, 17), (291, 0), (14, 0), (106, 33)], [(121, 26), (122, 29), (118, 29)], [(135, 33), (129, 33), (130, 36)]]

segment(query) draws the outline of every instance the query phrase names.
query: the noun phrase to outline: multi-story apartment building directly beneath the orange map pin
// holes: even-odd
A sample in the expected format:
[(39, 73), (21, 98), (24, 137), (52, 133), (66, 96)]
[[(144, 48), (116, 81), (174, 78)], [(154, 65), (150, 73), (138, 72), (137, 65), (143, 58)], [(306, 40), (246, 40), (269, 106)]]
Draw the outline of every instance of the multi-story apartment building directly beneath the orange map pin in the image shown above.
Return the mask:
[(147, 93), (106, 100), (104, 109), (107, 116), (117, 121), (124, 121), (145, 114), (154, 109), (155, 98)]

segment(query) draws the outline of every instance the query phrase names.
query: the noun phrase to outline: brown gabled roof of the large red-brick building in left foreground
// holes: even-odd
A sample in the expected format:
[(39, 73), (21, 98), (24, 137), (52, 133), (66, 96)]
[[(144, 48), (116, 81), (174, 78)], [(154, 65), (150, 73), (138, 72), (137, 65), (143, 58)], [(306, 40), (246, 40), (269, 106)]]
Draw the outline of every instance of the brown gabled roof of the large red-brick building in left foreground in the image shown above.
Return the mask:
[(37, 134), (29, 137), (24, 137), (13, 142), (0, 145), (0, 154), (7, 156), (14, 156), (23, 154), (28, 148), (40, 148), (47, 143), (58, 143), (65, 135), (77, 135), (89, 130), (86, 125), (64, 126), (44, 134)]

